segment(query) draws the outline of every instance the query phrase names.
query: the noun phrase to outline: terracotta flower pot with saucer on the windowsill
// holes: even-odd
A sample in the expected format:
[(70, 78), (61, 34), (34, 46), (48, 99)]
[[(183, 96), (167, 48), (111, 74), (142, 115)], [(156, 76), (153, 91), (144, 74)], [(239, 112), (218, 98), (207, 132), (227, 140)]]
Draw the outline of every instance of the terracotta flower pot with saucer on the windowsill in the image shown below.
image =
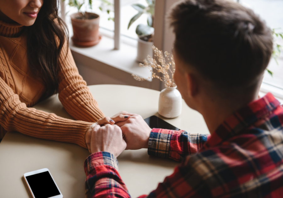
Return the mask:
[(99, 35), (99, 15), (86, 12), (86, 16), (90, 19), (82, 19), (82, 13), (71, 14), (74, 36), (72, 41), (78, 46), (94, 46), (99, 43), (101, 36)]

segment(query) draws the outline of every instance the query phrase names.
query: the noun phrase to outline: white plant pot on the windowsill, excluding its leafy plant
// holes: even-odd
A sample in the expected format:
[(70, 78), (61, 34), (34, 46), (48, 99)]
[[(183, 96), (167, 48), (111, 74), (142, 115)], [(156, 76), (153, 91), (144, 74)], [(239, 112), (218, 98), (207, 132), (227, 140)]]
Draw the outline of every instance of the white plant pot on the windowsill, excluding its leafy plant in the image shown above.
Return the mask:
[(147, 55), (153, 57), (152, 46), (153, 46), (153, 42), (148, 42), (138, 39), (136, 60), (140, 63), (143, 63), (143, 60), (147, 59)]

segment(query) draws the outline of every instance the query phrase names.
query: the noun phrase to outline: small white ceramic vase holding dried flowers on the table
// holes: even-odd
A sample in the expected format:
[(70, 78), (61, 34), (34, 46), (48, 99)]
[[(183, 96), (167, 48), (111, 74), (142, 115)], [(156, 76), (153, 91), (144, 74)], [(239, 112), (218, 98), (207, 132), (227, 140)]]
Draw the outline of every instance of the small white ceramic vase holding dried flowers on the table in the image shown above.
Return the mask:
[(165, 87), (159, 95), (158, 113), (165, 118), (176, 118), (181, 114), (182, 96), (175, 83), (173, 87)]

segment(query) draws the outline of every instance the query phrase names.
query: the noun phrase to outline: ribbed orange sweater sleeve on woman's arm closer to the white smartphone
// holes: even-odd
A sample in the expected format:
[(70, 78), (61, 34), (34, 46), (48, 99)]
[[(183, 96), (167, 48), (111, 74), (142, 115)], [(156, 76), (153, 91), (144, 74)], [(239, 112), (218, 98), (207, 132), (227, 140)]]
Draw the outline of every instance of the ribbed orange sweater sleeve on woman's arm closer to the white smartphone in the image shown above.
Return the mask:
[(0, 78), (0, 124), (37, 138), (75, 143), (86, 148), (85, 134), (92, 123), (74, 121), (26, 107), (19, 95)]

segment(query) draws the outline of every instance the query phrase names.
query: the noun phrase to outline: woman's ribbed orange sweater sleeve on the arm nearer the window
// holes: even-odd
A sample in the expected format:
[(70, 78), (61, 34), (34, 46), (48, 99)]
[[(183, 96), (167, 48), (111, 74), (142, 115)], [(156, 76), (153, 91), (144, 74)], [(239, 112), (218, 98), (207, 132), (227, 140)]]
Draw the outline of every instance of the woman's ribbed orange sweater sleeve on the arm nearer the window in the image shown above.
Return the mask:
[(73, 118), (86, 122), (96, 122), (105, 117), (86, 86), (86, 81), (78, 73), (67, 43), (64, 44), (61, 51), (58, 77), (59, 100)]

